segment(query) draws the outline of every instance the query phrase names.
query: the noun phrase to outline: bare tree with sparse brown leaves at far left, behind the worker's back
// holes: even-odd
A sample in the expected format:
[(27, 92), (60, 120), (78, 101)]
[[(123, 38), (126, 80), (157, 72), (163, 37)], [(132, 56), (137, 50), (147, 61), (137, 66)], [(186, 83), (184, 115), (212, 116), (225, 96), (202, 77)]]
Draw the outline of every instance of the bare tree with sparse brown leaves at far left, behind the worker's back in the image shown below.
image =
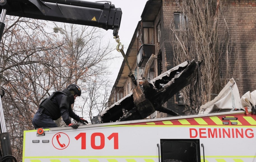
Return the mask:
[(63, 42), (44, 30), (44, 21), (7, 16), (5, 24), (0, 58), (3, 108), (13, 154), (21, 161), (23, 131), (33, 129), (32, 117), (51, 87), (45, 75), (45, 67), (52, 65), (49, 55)]

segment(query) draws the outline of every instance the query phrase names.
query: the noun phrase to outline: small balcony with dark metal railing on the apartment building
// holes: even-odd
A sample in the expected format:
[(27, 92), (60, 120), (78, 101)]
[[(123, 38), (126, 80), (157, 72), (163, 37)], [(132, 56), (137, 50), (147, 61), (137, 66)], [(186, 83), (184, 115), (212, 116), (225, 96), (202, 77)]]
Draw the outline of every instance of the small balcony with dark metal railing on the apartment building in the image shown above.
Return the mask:
[(143, 44), (137, 54), (138, 67), (144, 68), (152, 54), (155, 54), (155, 45)]

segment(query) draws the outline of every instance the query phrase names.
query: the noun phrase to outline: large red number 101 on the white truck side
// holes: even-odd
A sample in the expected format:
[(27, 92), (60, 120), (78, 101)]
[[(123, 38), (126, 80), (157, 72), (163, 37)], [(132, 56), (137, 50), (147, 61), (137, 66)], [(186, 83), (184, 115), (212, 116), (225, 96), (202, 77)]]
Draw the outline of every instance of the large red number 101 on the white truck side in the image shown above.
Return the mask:
[[(100, 145), (96, 146), (95, 138), (100, 137)], [(86, 133), (79, 133), (75, 139), (78, 140), (81, 138), (81, 149), (86, 149)], [(107, 137), (109, 141), (114, 138), (114, 149), (118, 149), (118, 133), (112, 133)], [(105, 136), (103, 133), (93, 133), (91, 134), (91, 148), (93, 149), (103, 149), (105, 147)]]

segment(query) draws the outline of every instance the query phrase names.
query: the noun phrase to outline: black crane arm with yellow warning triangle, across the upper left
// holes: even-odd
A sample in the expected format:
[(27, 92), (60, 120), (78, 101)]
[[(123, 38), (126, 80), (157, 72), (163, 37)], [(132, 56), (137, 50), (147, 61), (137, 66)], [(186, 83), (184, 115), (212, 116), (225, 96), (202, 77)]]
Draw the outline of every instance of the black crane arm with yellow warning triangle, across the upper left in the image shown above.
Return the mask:
[(111, 29), (114, 36), (122, 17), (121, 8), (111, 3), (83, 0), (0, 0), (0, 9), (11, 16)]

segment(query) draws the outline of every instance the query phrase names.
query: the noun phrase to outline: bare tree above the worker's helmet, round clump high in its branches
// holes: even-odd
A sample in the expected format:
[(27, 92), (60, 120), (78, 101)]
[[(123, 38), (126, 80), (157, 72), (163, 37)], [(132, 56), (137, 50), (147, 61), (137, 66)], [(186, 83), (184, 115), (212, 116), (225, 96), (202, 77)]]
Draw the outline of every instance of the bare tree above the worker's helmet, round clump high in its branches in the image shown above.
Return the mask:
[[(115, 58), (111, 54), (114, 48), (109, 41), (102, 42), (103, 35), (99, 28), (74, 24), (55, 25), (54, 31), (60, 34), (59, 38), (66, 44), (58, 53), (58, 64), (61, 65), (57, 70), (59, 76), (51, 76), (61, 85), (79, 84), (83, 95), (79, 99), (79, 104), (75, 104), (74, 111), (91, 119), (92, 110), (98, 109), (100, 98), (106, 102), (105, 98), (108, 97), (107, 93), (102, 94), (102, 87), (106, 88), (105, 92), (110, 89), (110, 81), (107, 80), (110, 72), (107, 67), (109, 60)], [(98, 96), (95, 97), (93, 94)]]

